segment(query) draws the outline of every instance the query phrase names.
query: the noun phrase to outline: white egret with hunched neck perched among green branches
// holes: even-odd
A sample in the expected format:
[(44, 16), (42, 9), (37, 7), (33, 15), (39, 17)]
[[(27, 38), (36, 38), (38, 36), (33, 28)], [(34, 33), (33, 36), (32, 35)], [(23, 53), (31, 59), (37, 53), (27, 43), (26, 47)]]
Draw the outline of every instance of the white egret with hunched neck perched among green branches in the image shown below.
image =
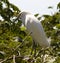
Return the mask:
[(35, 43), (38, 43), (43, 48), (50, 46), (50, 43), (47, 41), (47, 37), (42, 24), (34, 15), (29, 12), (21, 12), (18, 15), (17, 19), (20, 19), (22, 21), (28, 32), (31, 33), (31, 36)]

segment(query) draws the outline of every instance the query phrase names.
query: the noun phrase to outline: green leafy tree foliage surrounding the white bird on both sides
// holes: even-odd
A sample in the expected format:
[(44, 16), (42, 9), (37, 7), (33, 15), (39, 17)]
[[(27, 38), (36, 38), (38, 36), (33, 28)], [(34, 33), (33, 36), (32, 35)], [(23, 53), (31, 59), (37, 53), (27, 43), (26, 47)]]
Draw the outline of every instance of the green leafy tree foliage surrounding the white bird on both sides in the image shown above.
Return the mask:
[[(21, 21), (14, 21), (21, 12), (8, 0), (0, 0), (0, 63), (54, 63), (60, 62), (60, 3), (59, 10), (54, 15), (43, 15), (42, 25), (48, 38), (51, 38), (51, 48), (46, 50), (36, 46), (36, 56), (32, 50), (32, 37)], [(35, 14), (36, 17), (39, 14)], [(41, 17), (38, 17), (40, 20)], [(51, 62), (52, 63), (52, 62)]]

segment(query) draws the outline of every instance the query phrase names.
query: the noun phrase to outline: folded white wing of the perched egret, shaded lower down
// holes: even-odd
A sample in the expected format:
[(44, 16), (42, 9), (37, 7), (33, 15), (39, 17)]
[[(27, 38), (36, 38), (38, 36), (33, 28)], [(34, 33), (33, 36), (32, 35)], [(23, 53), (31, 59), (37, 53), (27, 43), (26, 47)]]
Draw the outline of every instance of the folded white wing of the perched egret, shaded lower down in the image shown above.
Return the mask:
[(26, 27), (29, 32), (32, 32), (33, 39), (39, 43), (40, 46), (49, 46), (43, 27), (35, 17), (28, 17)]

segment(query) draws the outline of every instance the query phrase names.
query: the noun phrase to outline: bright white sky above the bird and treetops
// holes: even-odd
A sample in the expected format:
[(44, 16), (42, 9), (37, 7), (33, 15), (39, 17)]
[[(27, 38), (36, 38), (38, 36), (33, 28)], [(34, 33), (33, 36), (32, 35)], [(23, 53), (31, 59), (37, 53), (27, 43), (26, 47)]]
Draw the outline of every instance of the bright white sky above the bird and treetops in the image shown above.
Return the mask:
[[(9, 0), (15, 4), (21, 11), (28, 11), (30, 13), (40, 15), (53, 14), (56, 12), (56, 5), (60, 0)], [(53, 9), (48, 9), (49, 6), (53, 6)]]

